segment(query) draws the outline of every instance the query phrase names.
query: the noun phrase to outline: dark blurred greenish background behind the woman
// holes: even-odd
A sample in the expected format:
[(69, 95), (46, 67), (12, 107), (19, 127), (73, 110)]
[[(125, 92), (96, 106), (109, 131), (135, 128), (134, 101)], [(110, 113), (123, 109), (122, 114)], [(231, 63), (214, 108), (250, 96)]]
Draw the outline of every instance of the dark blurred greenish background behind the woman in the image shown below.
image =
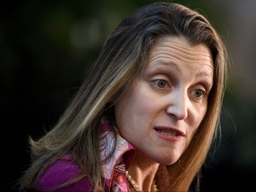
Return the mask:
[[(15, 183), (29, 164), (28, 135), (38, 138), (51, 128), (116, 25), (152, 2), (20, 0), (1, 4), (3, 191), (18, 191)], [(221, 137), (204, 166), (201, 189), (248, 191), (256, 173), (256, 1), (172, 2), (202, 12), (223, 37), (231, 61)]]

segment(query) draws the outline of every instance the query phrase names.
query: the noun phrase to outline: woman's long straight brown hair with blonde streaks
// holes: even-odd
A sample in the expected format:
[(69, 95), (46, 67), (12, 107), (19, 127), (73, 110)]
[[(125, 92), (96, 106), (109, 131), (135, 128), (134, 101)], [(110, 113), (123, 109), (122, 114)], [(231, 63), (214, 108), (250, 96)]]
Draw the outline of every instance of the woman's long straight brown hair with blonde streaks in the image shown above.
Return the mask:
[(163, 190), (188, 191), (204, 164), (220, 122), (227, 55), (220, 36), (202, 14), (172, 3), (141, 7), (108, 37), (91, 73), (58, 124), (39, 140), (30, 138), (33, 163), (21, 180), (21, 188), (32, 188), (35, 177), (39, 180), (60, 156), (71, 154), (76, 156), (74, 161), (83, 172), (65, 185), (87, 176), (95, 190), (103, 190), (98, 148), (100, 117), (115, 118), (115, 100), (140, 75), (152, 45), (163, 36), (183, 36), (191, 45), (205, 44), (212, 53), (214, 65), (214, 83), (204, 120), (180, 160), (167, 167), (170, 171)]

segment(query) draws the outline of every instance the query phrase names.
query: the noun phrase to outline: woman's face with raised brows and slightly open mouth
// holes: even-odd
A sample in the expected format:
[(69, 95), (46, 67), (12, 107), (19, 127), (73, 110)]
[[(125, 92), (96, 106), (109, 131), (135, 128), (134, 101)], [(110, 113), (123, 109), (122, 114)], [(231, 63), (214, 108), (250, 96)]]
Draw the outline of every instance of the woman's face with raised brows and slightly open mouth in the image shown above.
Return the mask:
[(204, 44), (190, 46), (172, 36), (158, 40), (143, 76), (116, 102), (121, 135), (148, 159), (175, 163), (204, 118), (212, 78), (212, 57)]

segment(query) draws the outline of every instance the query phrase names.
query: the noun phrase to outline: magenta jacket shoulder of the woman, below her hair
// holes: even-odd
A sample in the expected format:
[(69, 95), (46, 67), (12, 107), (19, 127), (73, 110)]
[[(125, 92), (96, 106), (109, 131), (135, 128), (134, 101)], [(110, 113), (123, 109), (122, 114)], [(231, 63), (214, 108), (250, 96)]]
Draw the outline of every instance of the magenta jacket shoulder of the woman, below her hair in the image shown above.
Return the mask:
[[(40, 179), (40, 187), (43, 191), (50, 191), (52, 188), (56, 188), (62, 184), (65, 184), (69, 180), (74, 179), (81, 173), (81, 169), (74, 164), (70, 158), (60, 158), (55, 164), (52, 164), (43, 174)], [(82, 190), (83, 188), (83, 190)], [(68, 191), (88, 191), (91, 190), (92, 183), (87, 178), (76, 181), (67, 187), (60, 188), (61, 192)]]

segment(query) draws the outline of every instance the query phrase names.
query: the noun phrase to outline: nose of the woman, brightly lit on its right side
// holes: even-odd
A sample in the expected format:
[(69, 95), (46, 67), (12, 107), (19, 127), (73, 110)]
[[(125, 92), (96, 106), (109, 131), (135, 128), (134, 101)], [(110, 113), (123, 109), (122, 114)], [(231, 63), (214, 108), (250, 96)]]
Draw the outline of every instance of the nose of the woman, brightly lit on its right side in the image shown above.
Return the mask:
[(176, 120), (183, 120), (188, 116), (188, 94), (185, 91), (172, 92), (166, 113)]

